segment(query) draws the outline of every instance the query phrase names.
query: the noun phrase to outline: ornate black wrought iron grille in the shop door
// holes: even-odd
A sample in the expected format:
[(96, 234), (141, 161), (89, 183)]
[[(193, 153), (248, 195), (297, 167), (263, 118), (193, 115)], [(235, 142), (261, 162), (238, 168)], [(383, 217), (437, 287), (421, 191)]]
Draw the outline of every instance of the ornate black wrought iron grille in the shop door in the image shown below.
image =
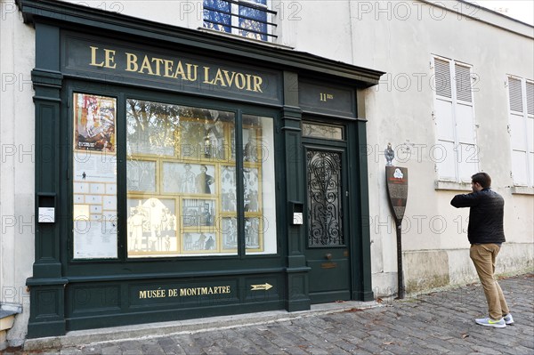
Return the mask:
[(309, 149), (308, 246), (344, 246), (341, 153)]

